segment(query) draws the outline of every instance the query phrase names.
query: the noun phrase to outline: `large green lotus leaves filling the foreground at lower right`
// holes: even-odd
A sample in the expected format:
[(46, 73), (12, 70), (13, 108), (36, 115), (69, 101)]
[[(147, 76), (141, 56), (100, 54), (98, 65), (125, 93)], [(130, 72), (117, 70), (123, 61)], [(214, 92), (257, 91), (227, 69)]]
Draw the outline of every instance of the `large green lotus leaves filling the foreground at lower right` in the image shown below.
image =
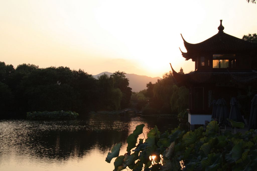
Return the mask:
[[(243, 124), (243, 123), (242, 123)], [(241, 125), (239, 123), (239, 125)], [(219, 132), (216, 121), (206, 129), (185, 133), (179, 127), (161, 133), (155, 126), (145, 141), (139, 139), (144, 124), (127, 138), (127, 153), (119, 156), (120, 144), (108, 153), (106, 162), (114, 162), (114, 171), (140, 170), (254, 170), (257, 168), (257, 130), (245, 134)], [(131, 149), (132, 152), (131, 152)]]

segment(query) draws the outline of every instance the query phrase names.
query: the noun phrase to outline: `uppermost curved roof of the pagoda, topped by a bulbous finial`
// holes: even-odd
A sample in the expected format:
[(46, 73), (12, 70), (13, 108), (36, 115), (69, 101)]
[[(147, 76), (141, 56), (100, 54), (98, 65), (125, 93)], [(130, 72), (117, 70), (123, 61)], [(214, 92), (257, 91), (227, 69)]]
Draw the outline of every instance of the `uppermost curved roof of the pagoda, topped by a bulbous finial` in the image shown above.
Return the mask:
[(223, 32), (224, 27), (221, 24), (218, 27), (219, 32), (214, 36), (206, 39), (203, 42), (191, 44), (188, 43), (182, 36), (187, 53), (182, 52), (182, 56), (186, 60), (194, 58), (199, 53), (223, 53), (223, 52), (245, 52), (245, 51), (257, 51), (257, 43), (245, 41), (243, 39), (231, 36)]

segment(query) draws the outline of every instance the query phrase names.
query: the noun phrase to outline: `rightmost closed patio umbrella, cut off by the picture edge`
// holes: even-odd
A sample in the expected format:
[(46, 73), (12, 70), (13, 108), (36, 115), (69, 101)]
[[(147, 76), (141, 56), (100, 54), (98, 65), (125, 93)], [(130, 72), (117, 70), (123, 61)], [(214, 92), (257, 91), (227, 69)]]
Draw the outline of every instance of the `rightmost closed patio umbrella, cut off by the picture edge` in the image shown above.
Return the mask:
[(257, 95), (252, 99), (248, 129), (257, 129)]

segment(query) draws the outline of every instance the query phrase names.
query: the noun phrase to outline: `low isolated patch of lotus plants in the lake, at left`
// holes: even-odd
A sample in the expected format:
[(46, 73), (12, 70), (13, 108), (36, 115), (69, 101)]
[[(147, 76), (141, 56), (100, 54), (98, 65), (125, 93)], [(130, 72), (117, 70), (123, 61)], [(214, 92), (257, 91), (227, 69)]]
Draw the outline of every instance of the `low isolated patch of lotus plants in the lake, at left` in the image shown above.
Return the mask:
[(54, 111), (54, 112), (27, 112), (27, 119), (31, 120), (71, 120), (79, 116), (76, 112)]

